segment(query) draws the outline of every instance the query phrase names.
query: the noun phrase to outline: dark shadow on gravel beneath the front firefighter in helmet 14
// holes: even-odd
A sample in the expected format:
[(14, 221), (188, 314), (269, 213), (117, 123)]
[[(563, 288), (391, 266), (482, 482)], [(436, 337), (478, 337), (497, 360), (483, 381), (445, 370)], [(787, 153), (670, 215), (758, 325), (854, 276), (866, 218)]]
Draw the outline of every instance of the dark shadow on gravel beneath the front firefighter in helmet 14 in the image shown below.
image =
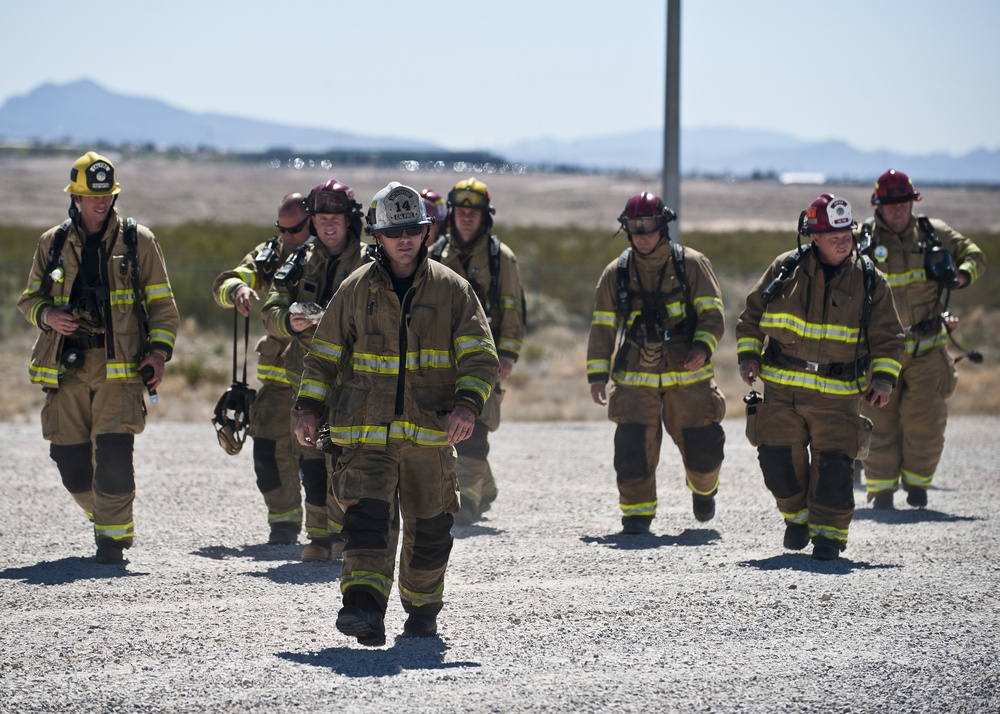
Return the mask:
[(345, 677), (394, 677), (407, 670), (482, 666), (479, 662), (445, 662), (447, 649), (439, 637), (397, 637), (388, 649), (327, 647), (319, 652), (278, 652), (275, 656)]

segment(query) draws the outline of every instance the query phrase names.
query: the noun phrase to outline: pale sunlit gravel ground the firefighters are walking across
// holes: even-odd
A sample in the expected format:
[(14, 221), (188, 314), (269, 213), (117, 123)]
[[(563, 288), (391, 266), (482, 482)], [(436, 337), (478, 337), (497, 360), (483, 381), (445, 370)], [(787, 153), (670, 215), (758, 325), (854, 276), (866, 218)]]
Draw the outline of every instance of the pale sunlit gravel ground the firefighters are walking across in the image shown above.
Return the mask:
[(250, 450), (226, 456), (207, 422), (139, 438), (124, 566), (93, 562), (37, 425), (0, 424), (0, 710), (997, 711), (1000, 417), (953, 418), (930, 508), (862, 505), (833, 562), (782, 550), (742, 422), (725, 428), (715, 520), (668, 445), (654, 533), (621, 536), (613, 425), (505, 424), (440, 637), (396, 639), (394, 591), (367, 649), (334, 627), (338, 563), (261, 545)]

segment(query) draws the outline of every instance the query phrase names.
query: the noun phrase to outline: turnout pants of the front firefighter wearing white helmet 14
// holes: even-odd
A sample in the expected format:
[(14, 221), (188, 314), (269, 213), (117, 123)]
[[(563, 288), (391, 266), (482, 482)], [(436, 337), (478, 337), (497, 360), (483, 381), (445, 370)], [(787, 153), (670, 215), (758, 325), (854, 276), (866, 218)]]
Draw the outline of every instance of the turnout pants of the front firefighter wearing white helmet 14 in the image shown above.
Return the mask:
[(345, 449), (333, 483), (344, 508), (344, 604), (372, 596), (385, 612), (402, 521), (399, 597), (403, 608), (441, 608), (459, 508), (455, 449), (390, 440)]

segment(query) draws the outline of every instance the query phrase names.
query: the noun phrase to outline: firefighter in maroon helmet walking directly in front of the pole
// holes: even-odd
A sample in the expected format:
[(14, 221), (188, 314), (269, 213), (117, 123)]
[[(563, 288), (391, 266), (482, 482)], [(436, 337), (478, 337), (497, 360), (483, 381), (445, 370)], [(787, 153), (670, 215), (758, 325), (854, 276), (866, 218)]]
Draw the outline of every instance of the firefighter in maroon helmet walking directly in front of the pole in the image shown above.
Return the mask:
[(722, 292), (708, 258), (671, 242), (676, 217), (659, 196), (632, 196), (618, 217), (629, 247), (604, 269), (594, 295), (587, 381), (594, 403), (607, 405), (618, 425), (614, 464), (626, 534), (649, 533), (656, 516), (661, 422), (680, 450), (695, 518), (715, 516), (726, 401), (711, 358), (725, 331)]

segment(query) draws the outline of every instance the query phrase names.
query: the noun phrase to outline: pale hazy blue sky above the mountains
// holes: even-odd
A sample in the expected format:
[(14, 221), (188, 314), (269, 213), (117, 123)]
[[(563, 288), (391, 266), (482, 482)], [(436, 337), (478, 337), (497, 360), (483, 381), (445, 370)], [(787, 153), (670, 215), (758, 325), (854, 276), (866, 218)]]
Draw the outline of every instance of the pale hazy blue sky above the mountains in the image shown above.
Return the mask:
[[(0, 103), (44, 82), (449, 149), (659, 129), (666, 0), (18, 0)], [(683, 0), (681, 127), (1000, 148), (996, 0)]]

